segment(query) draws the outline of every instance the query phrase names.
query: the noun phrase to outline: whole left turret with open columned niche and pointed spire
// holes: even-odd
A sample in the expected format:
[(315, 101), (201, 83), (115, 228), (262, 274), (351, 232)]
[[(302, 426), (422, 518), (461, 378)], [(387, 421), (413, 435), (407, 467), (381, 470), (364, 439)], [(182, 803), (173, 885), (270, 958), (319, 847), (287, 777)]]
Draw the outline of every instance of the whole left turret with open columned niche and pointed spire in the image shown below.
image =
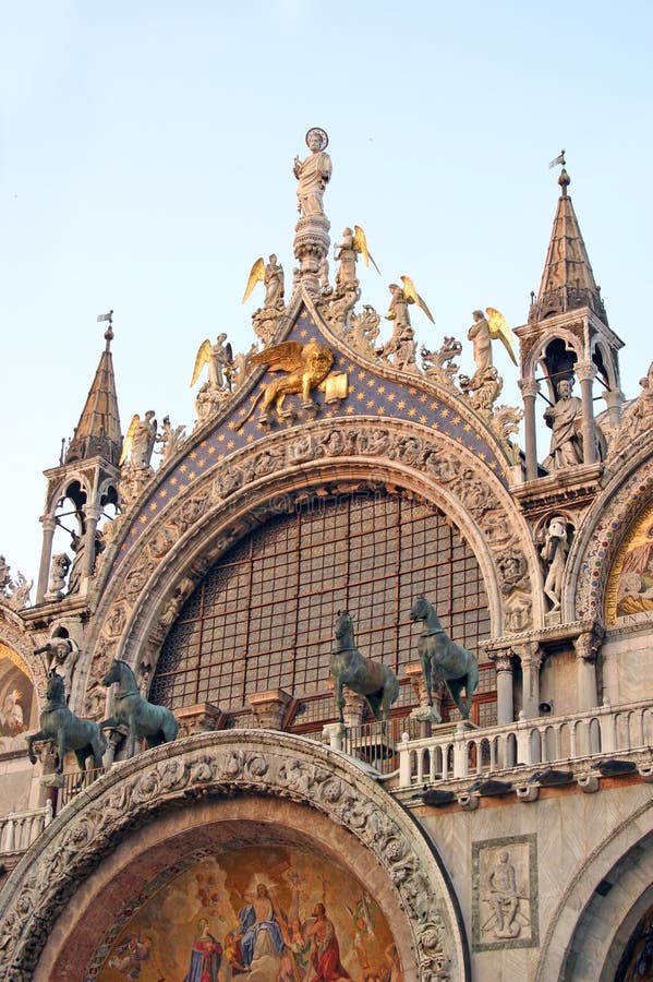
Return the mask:
[[(110, 311), (98, 318), (108, 322), (106, 345), (86, 404), (68, 448), (62, 448), (59, 466), (45, 471), (48, 489), (40, 519), (44, 539), (37, 604), (74, 595), (86, 596), (100, 548), (98, 522), (108, 504), (118, 504), (122, 435), (111, 358), (112, 316)], [(70, 507), (61, 513), (64, 503)], [(74, 555), (71, 560), (68, 553), (58, 554), (55, 570), (52, 546), (58, 526), (71, 536), (70, 549)]]

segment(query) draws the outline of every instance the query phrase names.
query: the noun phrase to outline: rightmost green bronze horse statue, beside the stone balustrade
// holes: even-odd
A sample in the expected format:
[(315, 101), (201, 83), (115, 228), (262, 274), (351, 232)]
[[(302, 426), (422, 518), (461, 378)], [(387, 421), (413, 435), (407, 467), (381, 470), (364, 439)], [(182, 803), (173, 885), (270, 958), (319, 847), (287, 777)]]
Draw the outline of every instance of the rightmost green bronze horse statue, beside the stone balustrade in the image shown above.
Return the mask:
[[(451, 698), (460, 709), (463, 719), (470, 718), (472, 696), (479, 684), (479, 664), (471, 651), (452, 642), (435, 612), (433, 604), (420, 596), (410, 612), (411, 621), (423, 621), (420, 635), (420, 661), (424, 672), (428, 705), (433, 706), (433, 683), (446, 682)], [(460, 693), (464, 688), (467, 703)]]

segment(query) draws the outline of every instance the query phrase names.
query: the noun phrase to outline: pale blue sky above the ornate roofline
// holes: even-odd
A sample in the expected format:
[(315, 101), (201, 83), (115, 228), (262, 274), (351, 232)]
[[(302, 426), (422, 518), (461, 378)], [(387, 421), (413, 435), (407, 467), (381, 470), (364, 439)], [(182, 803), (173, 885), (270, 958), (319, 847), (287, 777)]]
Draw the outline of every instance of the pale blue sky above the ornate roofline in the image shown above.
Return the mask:
[[(570, 193), (622, 387), (653, 358), (644, 327), (653, 158), (645, 0), (300, 2), (0, 0), (0, 323), (4, 404), (0, 552), (35, 576), (44, 468), (71, 435), (113, 308), (123, 430), (154, 408), (194, 421), (196, 350), (254, 335), (241, 297), (258, 255), (290, 283), (295, 154), (329, 133), (325, 196), (337, 241), (365, 228), (387, 309), (409, 274), (435, 327), (464, 340), (471, 311), (525, 320), (558, 196)], [(465, 345), (463, 370), (472, 368)], [(497, 357), (503, 402), (516, 370)], [(542, 410), (544, 404), (542, 404)], [(540, 447), (540, 457), (546, 447)]]

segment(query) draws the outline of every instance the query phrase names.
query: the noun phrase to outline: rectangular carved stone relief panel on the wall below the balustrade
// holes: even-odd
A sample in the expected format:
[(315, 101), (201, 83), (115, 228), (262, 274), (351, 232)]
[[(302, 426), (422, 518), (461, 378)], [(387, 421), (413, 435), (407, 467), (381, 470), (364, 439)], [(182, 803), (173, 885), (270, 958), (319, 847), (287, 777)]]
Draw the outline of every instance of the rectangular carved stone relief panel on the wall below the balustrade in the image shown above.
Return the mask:
[(472, 947), (535, 947), (537, 867), (535, 836), (474, 842)]

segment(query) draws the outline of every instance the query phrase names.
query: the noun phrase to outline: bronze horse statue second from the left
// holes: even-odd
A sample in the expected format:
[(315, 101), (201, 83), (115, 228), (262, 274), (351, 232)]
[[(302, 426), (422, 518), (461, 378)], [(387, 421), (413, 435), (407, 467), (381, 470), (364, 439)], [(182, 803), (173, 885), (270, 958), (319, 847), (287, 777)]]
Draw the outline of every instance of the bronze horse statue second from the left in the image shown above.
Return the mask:
[(136, 740), (145, 738), (148, 747), (174, 740), (179, 731), (174, 716), (167, 706), (156, 706), (141, 695), (135, 675), (126, 661), (113, 659), (102, 679), (102, 685), (111, 685), (112, 682), (118, 682), (113, 716), (102, 720), (100, 727), (105, 730), (128, 728), (128, 757), (134, 756)]

